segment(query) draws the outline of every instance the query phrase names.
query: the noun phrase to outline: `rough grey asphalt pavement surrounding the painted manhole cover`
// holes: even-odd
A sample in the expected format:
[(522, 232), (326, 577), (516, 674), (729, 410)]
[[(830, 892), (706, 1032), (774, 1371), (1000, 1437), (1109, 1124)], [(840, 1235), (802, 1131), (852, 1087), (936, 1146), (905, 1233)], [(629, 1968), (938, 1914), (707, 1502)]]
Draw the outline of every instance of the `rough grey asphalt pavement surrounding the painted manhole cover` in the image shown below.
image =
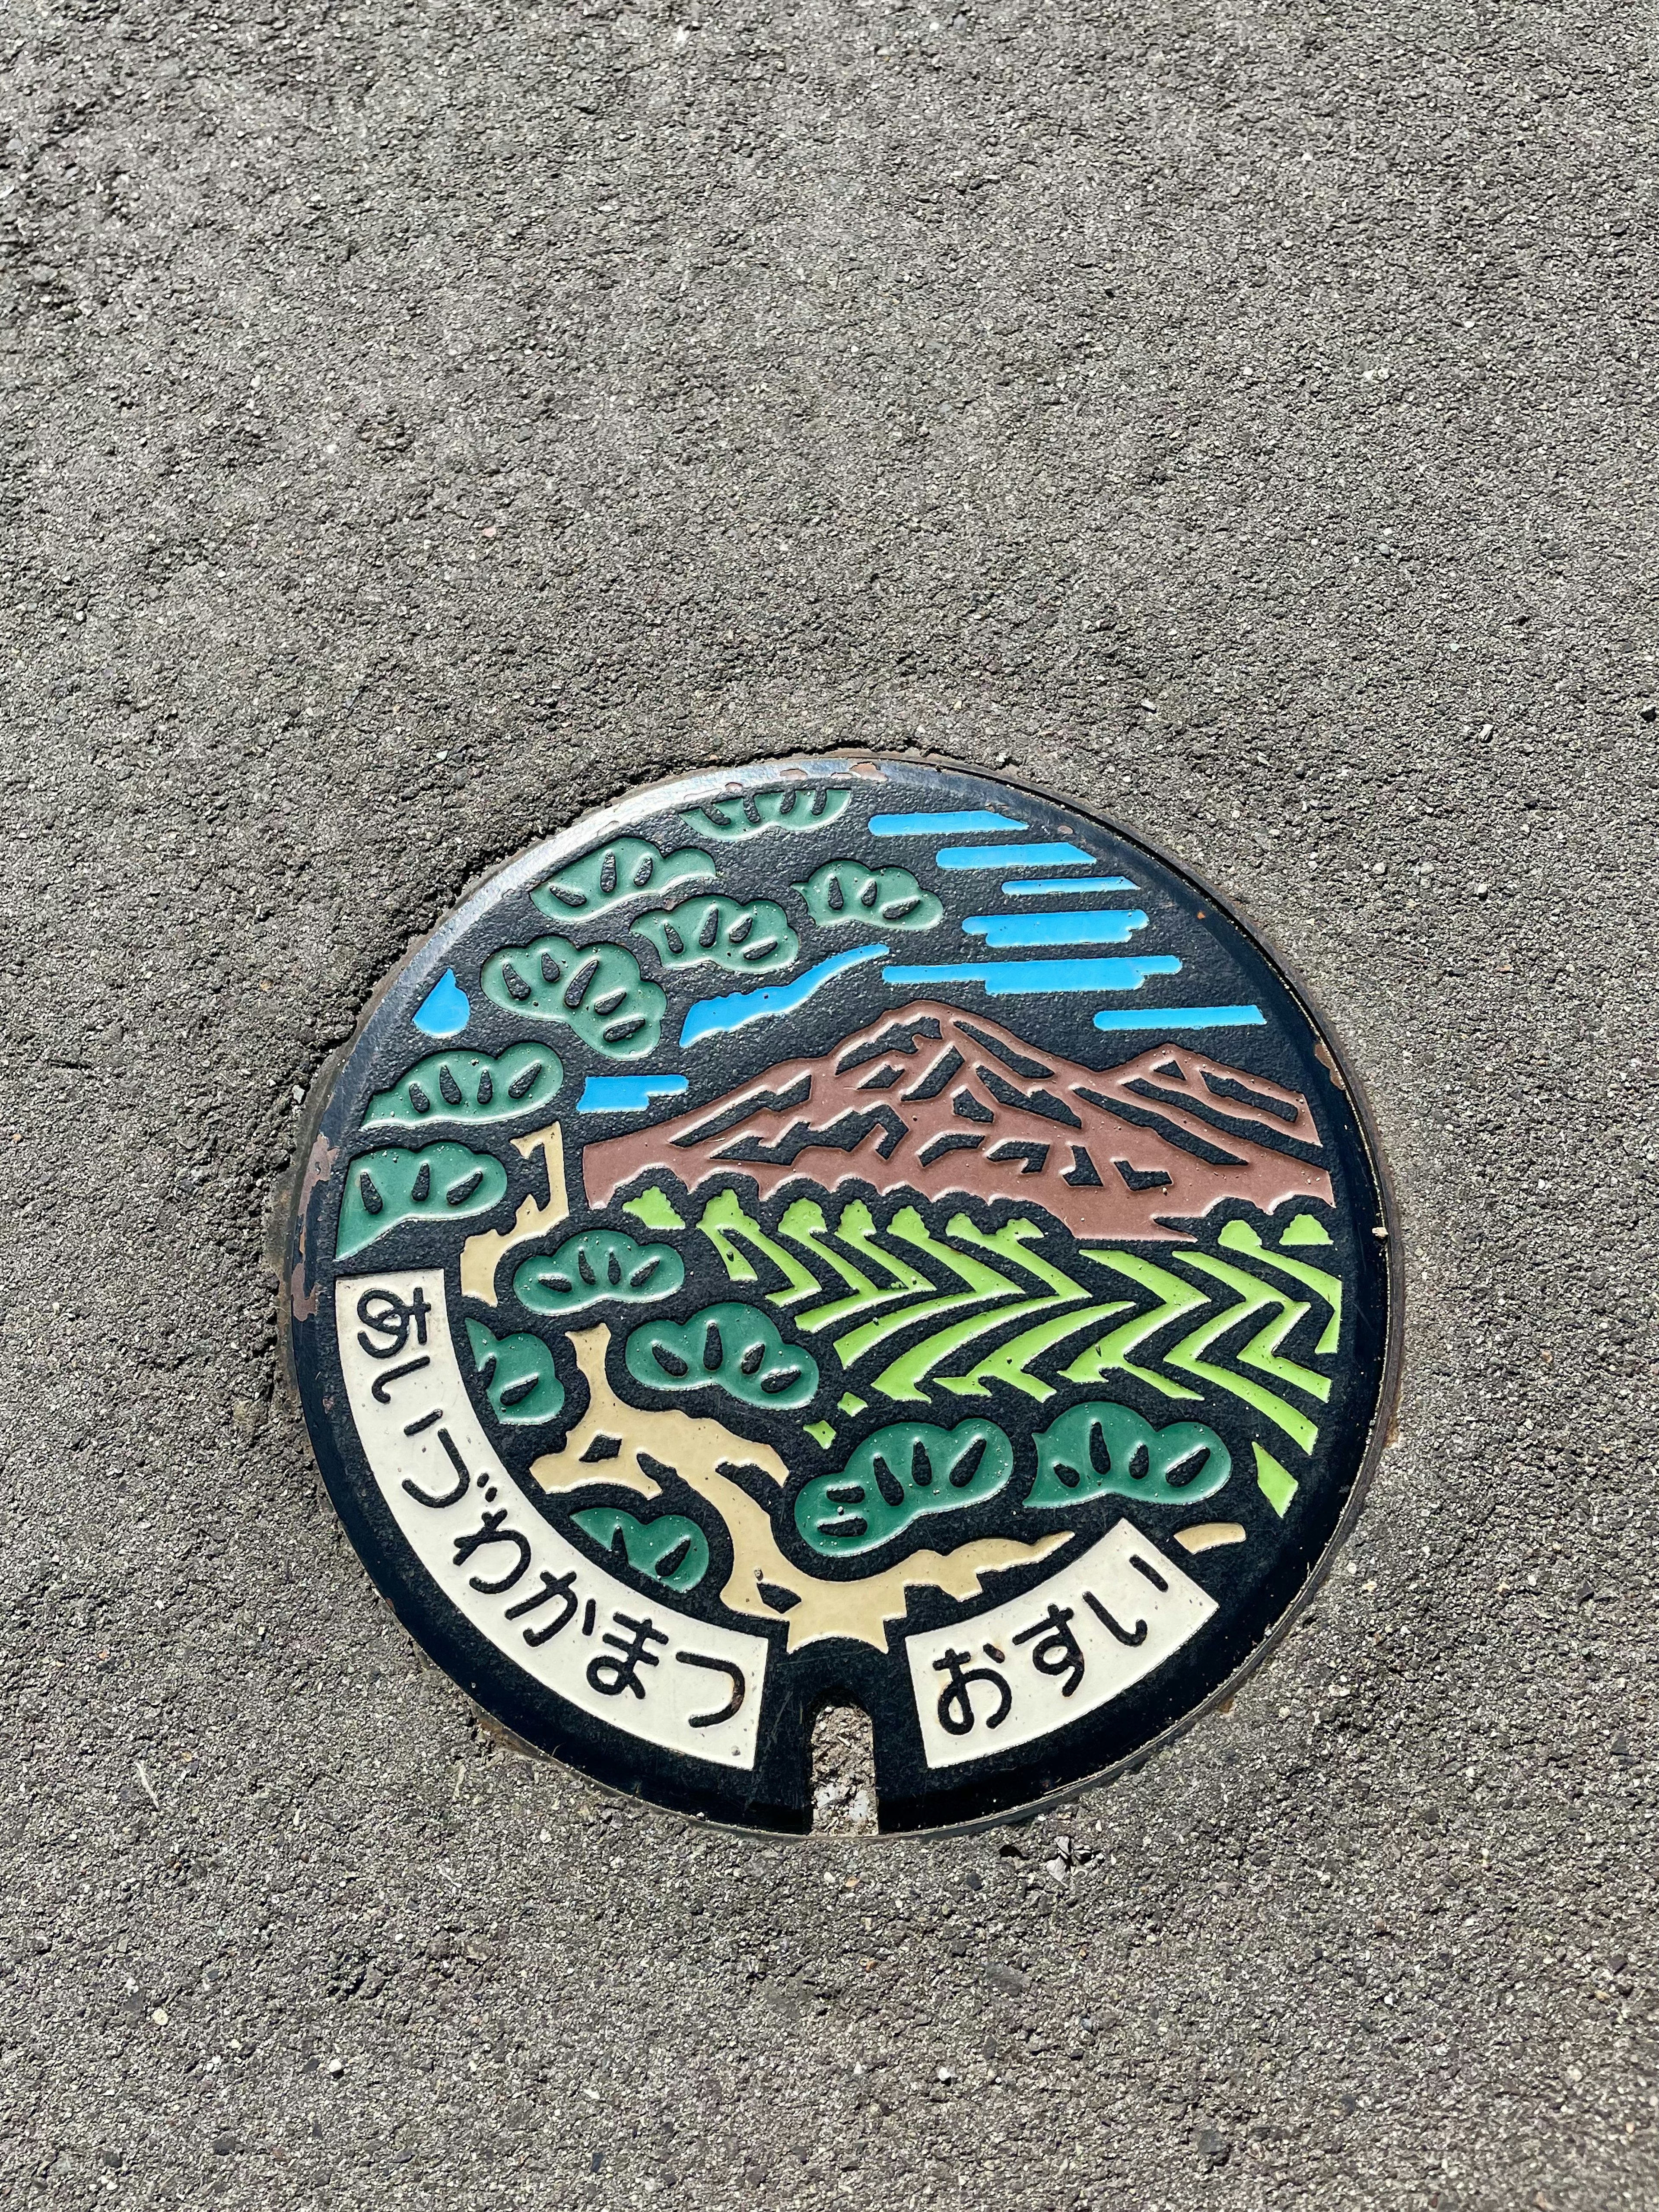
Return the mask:
[[(7, 18), (7, 2203), (1659, 2203), (1644, 35)], [(261, 1234), (469, 878), (836, 743), (1241, 894), (1411, 1312), (1225, 1717), (1035, 1825), (770, 1847), (422, 1666)]]

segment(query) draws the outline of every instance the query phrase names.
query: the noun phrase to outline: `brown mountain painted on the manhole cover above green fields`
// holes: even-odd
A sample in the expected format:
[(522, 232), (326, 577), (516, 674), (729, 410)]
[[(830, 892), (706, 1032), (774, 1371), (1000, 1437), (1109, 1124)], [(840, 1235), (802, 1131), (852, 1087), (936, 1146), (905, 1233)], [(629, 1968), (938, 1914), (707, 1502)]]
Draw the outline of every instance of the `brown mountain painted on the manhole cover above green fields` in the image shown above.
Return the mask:
[(1102, 1073), (922, 1000), (712, 1106), (591, 1144), (582, 1179), (593, 1206), (648, 1172), (688, 1190), (737, 1172), (763, 1197), (783, 1183), (964, 1192), (1042, 1206), (1077, 1237), (1179, 1237), (1170, 1223), (1221, 1199), (1329, 1203), (1327, 1172), (1272, 1141), (1285, 1137), (1318, 1150), (1301, 1091), (1190, 1046)]

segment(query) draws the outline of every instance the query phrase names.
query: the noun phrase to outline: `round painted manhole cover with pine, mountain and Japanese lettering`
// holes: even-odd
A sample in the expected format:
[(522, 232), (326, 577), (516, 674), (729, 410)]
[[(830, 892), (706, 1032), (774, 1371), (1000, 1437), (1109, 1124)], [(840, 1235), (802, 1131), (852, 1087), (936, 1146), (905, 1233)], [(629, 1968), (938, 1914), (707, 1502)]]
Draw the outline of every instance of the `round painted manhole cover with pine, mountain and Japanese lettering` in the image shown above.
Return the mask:
[(1214, 896), (987, 776), (787, 761), (507, 867), (338, 1068), (290, 1254), (312, 1442), (520, 1736), (810, 1825), (1135, 1756), (1272, 1635), (1385, 1411), (1329, 1040)]

